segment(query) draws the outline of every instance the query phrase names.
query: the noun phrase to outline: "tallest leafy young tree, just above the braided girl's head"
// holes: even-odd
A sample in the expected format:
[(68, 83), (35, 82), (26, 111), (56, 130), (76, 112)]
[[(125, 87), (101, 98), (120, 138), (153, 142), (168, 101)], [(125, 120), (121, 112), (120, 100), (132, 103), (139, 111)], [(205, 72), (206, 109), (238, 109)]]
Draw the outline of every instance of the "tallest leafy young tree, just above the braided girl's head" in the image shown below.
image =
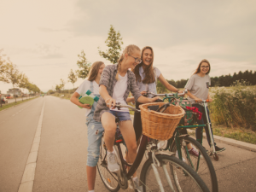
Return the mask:
[(120, 56), (119, 51), (121, 50), (121, 44), (124, 44), (120, 36), (121, 36), (120, 33), (115, 32), (113, 26), (111, 25), (110, 30), (108, 32), (108, 38), (105, 41), (105, 43), (108, 46), (108, 50), (104, 52), (100, 50), (100, 48), (98, 47), (99, 54), (113, 64), (119, 61), (119, 56)]

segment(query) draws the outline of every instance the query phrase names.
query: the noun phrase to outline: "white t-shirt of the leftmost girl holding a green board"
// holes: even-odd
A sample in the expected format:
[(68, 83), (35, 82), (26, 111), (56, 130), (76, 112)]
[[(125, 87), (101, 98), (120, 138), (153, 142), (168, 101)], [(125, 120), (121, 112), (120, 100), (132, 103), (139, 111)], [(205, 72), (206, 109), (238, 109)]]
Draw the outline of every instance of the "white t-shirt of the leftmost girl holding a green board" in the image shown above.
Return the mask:
[[(96, 81), (92, 82), (93, 84), (93, 94), (94, 95), (99, 95), (100, 92), (100, 87), (99, 84), (96, 83)], [(86, 92), (87, 90), (90, 90), (90, 81), (89, 80), (84, 80), (82, 84), (80, 84), (79, 88), (76, 90), (77, 93), (79, 93), (80, 96), (87, 96)], [(87, 116), (90, 113), (91, 109), (85, 108), (85, 116)]]

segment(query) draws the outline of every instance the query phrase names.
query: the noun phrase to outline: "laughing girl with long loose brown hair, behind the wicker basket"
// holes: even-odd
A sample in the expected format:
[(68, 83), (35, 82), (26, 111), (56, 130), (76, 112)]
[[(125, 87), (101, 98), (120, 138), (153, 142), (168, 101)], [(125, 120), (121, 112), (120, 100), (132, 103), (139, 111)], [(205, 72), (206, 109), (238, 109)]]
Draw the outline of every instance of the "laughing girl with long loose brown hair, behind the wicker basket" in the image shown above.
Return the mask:
[[(153, 67), (154, 61), (154, 52), (153, 49), (149, 46), (146, 46), (142, 50), (142, 62), (138, 64), (133, 73), (135, 74), (137, 80), (137, 86), (142, 94), (145, 94), (146, 91), (157, 93), (156, 85), (157, 79), (160, 80), (160, 83), (163, 84), (167, 90), (173, 92), (182, 93), (182, 90), (178, 90), (172, 84), (169, 84), (164, 76), (160, 73), (160, 70), (157, 67)], [(151, 97), (151, 96), (149, 96)], [(136, 102), (136, 108), (139, 109), (139, 105), (142, 103)], [(143, 132), (143, 125), (140, 113), (134, 114), (133, 126), (136, 133), (136, 139), (139, 141)]]

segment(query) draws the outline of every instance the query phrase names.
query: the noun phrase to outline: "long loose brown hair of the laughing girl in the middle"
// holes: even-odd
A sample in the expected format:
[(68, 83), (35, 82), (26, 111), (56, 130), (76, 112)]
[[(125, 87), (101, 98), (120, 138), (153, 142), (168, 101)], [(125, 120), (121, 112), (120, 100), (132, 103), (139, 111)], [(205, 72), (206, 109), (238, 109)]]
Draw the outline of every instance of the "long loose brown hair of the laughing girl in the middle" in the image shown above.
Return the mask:
[[(142, 50), (142, 59), (143, 59), (143, 53), (145, 49), (150, 49), (152, 51), (152, 60), (149, 64), (148, 67), (146, 67), (144, 73), (145, 73), (145, 78), (143, 79), (143, 84), (152, 84), (155, 81), (154, 78), (154, 67), (153, 67), (153, 61), (154, 61), (154, 51), (152, 49), (152, 47), (146, 46), (143, 48)], [(140, 72), (139, 72), (139, 68), (143, 66), (143, 61), (138, 64), (134, 69), (133, 69), (133, 73), (135, 74), (136, 80), (138, 82), (142, 81), (142, 77), (140, 76)]]

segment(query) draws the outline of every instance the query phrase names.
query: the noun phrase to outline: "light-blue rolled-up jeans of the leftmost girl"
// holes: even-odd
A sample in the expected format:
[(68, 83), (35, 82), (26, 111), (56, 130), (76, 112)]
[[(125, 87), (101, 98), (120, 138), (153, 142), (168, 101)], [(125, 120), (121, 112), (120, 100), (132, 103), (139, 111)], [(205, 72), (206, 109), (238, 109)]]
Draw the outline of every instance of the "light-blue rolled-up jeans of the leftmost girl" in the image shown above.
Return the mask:
[(102, 144), (102, 133), (104, 131), (102, 123), (93, 119), (93, 113), (86, 117), (87, 125), (87, 166), (96, 166), (100, 155), (100, 146)]

